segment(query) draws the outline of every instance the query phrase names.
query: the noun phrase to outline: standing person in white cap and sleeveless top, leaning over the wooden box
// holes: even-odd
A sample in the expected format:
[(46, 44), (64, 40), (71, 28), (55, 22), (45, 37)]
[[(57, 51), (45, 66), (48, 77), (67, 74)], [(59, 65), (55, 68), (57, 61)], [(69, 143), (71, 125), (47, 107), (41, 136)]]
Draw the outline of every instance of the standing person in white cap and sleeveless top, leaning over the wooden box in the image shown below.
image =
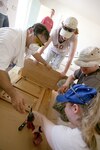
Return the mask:
[(61, 76), (66, 75), (76, 52), (78, 43), (77, 26), (78, 21), (75, 17), (65, 19), (61, 27), (57, 27), (52, 31), (45, 47), (40, 49), (41, 54), (46, 51), (44, 59), (55, 70), (59, 69), (61, 62), (68, 55), (68, 60), (64, 70), (61, 72)]

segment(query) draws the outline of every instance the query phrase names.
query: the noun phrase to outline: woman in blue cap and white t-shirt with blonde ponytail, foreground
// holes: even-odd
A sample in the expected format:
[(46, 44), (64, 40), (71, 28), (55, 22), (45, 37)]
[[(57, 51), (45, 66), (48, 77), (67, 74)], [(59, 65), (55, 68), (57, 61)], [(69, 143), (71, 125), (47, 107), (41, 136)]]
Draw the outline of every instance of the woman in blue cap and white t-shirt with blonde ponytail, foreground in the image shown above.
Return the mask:
[(96, 134), (100, 134), (100, 93), (95, 88), (76, 84), (56, 100), (65, 105), (69, 123), (56, 125), (33, 111), (41, 124), (52, 150), (97, 150)]

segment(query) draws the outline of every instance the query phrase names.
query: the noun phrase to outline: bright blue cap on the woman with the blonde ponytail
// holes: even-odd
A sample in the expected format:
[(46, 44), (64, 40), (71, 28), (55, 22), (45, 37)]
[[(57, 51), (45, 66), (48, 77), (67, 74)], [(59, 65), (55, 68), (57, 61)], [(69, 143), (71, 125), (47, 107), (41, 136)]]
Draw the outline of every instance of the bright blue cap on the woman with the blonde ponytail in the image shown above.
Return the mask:
[(71, 102), (75, 104), (88, 104), (97, 95), (95, 88), (87, 85), (76, 84), (73, 85), (66, 93), (59, 94), (56, 97), (57, 102)]

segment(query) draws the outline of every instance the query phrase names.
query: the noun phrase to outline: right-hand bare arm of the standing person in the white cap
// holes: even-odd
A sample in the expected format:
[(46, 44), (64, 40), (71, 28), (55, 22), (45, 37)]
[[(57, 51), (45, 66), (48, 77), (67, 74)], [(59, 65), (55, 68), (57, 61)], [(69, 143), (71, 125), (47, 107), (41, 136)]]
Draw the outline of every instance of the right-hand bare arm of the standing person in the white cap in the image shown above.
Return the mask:
[(67, 61), (67, 64), (65, 66), (65, 69), (63, 72), (61, 72), (61, 75), (65, 76), (70, 65), (71, 65), (71, 62), (73, 60), (73, 57), (74, 57), (74, 54), (76, 52), (76, 47), (77, 47), (77, 37), (74, 39), (74, 41), (71, 43), (71, 49), (70, 49), (70, 54), (68, 56), (68, 61)]

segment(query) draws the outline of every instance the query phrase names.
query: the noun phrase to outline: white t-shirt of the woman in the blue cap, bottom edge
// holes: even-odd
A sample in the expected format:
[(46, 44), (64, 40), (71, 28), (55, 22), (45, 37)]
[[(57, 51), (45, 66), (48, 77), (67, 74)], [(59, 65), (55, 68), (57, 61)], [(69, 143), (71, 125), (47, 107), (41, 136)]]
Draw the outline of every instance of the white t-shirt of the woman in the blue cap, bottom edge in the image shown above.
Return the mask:
[(57, 125), (52, 129), (53, 150), (90, 150), (78, 128)]

